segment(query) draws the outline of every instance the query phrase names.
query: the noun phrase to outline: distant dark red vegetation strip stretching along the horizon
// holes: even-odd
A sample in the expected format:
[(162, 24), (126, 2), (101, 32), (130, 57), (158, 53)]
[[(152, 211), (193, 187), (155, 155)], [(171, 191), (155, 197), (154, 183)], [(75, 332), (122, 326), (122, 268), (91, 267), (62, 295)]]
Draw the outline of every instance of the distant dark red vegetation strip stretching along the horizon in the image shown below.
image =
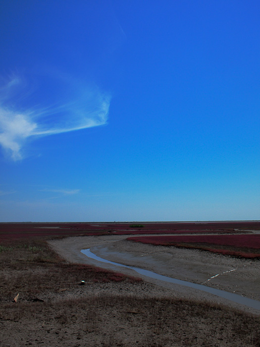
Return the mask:
[[(138, 227), (136, 227), (138, 226)], [(140, 227), (142, 226), (142, 227)], [(0, 223), (0, 242), (30, 237), (114, 234), (246, 233), (260, 222)]]

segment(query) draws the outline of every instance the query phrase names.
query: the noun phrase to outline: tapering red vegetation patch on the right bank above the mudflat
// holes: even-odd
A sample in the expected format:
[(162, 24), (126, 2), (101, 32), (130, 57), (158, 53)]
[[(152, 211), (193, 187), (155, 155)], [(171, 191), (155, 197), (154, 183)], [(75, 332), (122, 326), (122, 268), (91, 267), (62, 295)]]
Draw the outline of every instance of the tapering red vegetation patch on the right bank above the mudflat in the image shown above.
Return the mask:
[(127, 240), (153, 245), (197, 248), (244, 258), (260, 257), (260, 234), (139, 236), (128, 237)]

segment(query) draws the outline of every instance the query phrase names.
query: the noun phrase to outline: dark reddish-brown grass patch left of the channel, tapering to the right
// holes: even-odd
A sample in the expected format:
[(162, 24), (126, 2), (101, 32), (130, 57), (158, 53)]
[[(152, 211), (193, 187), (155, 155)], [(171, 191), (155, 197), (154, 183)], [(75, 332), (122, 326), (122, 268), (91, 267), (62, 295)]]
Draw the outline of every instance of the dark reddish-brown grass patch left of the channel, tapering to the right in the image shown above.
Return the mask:
[[(0, 246), (0, 302), (19, 301), (54, 295), (62, 287), (107, 282), (139, 282), (140, 278), (84, 264), (68, 264), (60, 259), (44, 239), (20, 239)], [(74, 287), (75, 287), (74, 286)]]

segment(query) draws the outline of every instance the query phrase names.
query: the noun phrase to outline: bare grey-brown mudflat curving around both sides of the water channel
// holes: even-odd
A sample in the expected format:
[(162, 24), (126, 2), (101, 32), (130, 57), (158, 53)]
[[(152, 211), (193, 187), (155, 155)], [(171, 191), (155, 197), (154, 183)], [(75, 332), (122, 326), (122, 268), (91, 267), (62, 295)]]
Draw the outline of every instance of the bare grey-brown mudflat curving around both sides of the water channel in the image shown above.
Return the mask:
[[(147, 285), (140, 286), (140, 289), (133, 289), (139, 290), (138, 293), (131, 292), (133, 294), (152, 294), (223, 303), (246, 312), (260, 314), (259, 310), (233, 303), (207, 292), (140, 276), (133, 270), (101, 263), (81, 253), (81, 249), (90, 248), (96, 255), (113, 262), (139, 267), (175, 279), (203, 284), (260, 300), (259, 260), (233, 258), (194, 249), (141, 244), (126, 241), (127, 237), (129, 235), (81, 236), (52, 240), (49, 243), (68, 262), (92, 264), (142, 277)], [(211, 278), (213, 276), (216, 277)], [(111, 288), (107, 286), (106, 290), (111, 294), (118, 293), (113, 286)], [(123, 288), (122, 290), (124, 291)]]

